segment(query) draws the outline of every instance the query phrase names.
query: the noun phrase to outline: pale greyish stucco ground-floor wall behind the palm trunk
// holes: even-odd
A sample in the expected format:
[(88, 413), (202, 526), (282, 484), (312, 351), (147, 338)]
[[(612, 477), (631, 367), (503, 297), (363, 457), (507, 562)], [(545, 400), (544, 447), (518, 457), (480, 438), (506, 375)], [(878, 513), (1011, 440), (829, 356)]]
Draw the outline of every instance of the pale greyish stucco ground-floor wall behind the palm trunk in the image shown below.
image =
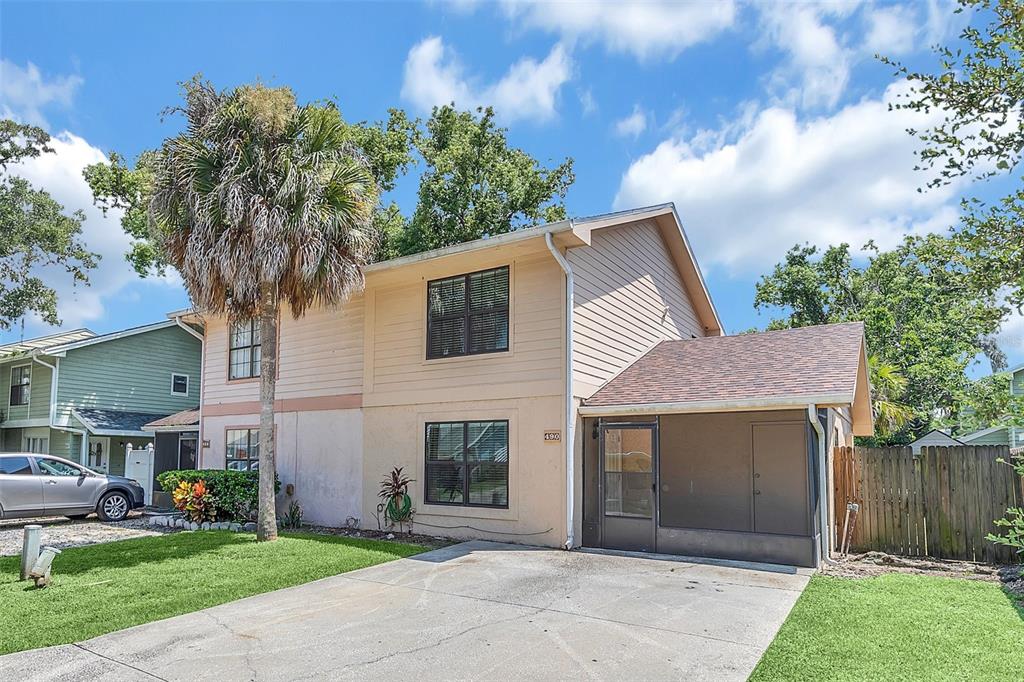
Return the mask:
[[(200, 467), (224, 468), (227, 429), (258, 428), (259, 415), (204, 417)], [(343, 526), (361, 517), (362, 416), (359, 410), (287, 412), (276, 416), (276, 467), (282, 493), (279, 512), (288, 508), (288, 483), (310, 523)]]

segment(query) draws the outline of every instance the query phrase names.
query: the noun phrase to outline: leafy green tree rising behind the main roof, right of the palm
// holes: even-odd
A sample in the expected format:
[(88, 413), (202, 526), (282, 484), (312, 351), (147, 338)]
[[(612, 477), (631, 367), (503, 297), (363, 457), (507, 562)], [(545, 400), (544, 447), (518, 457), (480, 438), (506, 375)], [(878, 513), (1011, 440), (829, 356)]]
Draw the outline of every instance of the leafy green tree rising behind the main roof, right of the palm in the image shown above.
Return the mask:
[(487, 235), (561, 220), (575, 176), (572, 160), (544, 168), (509, 146), (493, 109), (436, 106), (416, 136), (424, 171), (416, 212), (400, 254), (461, 244)]

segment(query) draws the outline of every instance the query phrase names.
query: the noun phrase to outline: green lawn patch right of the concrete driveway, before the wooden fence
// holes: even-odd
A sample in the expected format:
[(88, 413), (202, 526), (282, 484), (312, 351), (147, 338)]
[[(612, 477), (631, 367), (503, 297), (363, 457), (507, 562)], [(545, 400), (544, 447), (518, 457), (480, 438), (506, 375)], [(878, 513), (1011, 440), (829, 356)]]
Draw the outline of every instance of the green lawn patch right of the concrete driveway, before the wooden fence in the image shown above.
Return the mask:
[(816, 576), (752, 680), (1019, 680), (1024, 610), (992, 583)]

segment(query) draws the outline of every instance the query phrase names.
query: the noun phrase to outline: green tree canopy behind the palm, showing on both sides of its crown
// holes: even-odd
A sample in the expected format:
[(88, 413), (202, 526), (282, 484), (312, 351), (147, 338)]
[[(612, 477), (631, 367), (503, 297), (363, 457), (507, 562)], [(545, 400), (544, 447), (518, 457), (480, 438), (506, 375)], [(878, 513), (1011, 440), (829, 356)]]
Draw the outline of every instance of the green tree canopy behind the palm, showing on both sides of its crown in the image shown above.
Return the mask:
[[(438, 106), (426, 121), (411, 120), (402, 110), (392, 109), (386, 121), (341, 119), (340, 126), (340, 135), (366, 160), (379, 190), (373, 214), (379, 236), (374, 260), (565, 217), (563, 200), (574, 179), (571, 159), (548, 168), (510, 146), (507, 131), (495, 123), (490, 109), (459, 112)], [(117, 153), (110, 158), (108, 164), (86, 168), (85, 179), (97, 206), (125, 211), (121, 224), (132, 238), (127, 258), (136, 271), (159, 272), (167, 258), (145, 215), (154, 153), (141, 154), (133, 166)], [(421, 171), (417, 204), (407, 217), (386, 196), (416, 166)]]

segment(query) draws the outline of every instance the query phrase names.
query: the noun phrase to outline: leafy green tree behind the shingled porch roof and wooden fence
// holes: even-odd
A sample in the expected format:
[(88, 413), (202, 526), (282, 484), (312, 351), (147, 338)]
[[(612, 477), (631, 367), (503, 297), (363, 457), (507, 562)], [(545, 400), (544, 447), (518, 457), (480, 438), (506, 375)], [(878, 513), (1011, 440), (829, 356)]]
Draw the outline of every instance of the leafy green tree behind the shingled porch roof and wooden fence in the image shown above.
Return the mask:
[(877, 435), (900, 442), (958, 411), (970, 383), (965, 370), (991, 349), (1006, 310), (994, 294), (974, 286), (951, 240), (908, 237), (892, 251), (873, 244), (865, 250), (866, 263), (858, 265), (846, 244), (824, 253), (794, 247), (758, 283), (755, 306), (785, 313), (770, 328), (862, 321), (878, 367), (891, 367), (887, 373), (900, 377), (883, 383), (886, 377), (876, 373), (886, 388), (881, 399), (911, 411), (909, 421), (894, 420), (877, 403), (884, 417)]

